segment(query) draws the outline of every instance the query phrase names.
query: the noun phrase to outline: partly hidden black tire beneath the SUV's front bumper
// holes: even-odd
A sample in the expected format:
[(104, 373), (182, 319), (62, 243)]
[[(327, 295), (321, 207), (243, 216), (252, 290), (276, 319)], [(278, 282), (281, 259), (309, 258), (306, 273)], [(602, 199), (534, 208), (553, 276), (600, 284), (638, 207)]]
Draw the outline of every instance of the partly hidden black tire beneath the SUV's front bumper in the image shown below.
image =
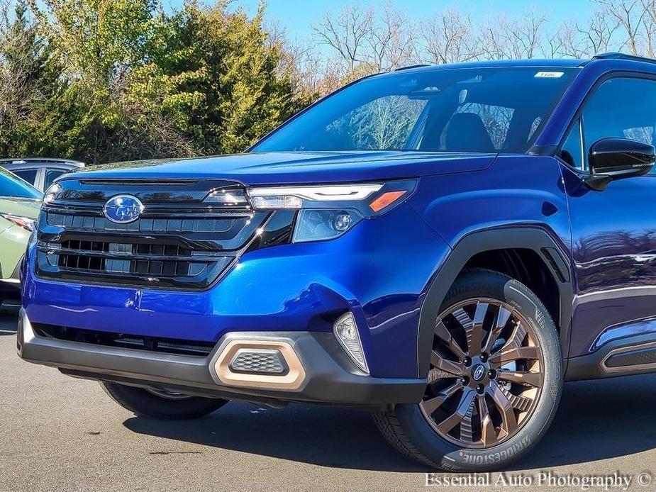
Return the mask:
[(167, 420), (201, 418), (228, 403), (228, 400), (199, 396), (169, 398), (158, 396), (145, 388), (102, 381), (100, 386), (113, 401), (135, 415), (143, 417)]

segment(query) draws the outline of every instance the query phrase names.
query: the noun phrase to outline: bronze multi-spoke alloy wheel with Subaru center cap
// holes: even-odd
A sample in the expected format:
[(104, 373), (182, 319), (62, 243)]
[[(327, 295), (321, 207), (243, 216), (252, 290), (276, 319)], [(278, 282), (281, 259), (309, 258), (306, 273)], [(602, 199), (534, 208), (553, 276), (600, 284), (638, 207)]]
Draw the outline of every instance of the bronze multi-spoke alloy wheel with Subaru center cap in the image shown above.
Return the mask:
[(455, 445), (499, 445), (535, 410), (543, 361), (533, 325), (513, 306), (491, 298), (456, 303), (435, 323), (421, 413)]

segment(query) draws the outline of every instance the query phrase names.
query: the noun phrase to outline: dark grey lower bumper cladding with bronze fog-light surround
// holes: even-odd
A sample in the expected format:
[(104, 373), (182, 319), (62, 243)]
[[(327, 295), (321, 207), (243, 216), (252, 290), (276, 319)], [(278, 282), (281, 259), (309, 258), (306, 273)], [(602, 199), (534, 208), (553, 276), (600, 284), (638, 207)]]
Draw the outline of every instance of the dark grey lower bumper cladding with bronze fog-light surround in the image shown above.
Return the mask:
[[(271, 384), (244, 386), (239, 381), (222, 384), (221, 377), (216, 374), (216, 361), (234, 340), (288, 344), (304, 371), (299, 385), (274, 388)], [(426, 388), (426, 379), (374, 378), (359, 374), (332, 333), (230, 332), (217, 342), (207, 357), (195, 357), (43, 337), (37, 335), (26, 311), (21, 309), (17, 345), (18, 355), (26, 361), (57, 367), (71, 376), (272, 406), (297, 401), (383, 407), (416, 403)]]

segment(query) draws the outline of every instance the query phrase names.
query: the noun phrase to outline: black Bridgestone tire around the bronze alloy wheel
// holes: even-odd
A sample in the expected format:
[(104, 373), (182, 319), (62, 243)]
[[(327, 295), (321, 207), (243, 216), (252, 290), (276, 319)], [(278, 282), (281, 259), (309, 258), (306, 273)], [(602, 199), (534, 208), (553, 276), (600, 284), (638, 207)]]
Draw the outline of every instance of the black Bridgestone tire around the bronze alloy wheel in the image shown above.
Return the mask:
[(492, 298), (511, 304), (528, 323), (543, 354), (543, 386), (532, 413), (516, 434), (491, 447), (458, 446), (439, 435), (428, 423), (419, 404), (398, 405), (374, 413), (379, 430), (407, 457), (445, 471), (503, 469), (522, 457), (540, 440), (552, 422), (562, 393), (563, 366), (557, 330), (538, 296), (520, 282), (499, 272), (475, 269), (462, 274), (445, 297), (440, 312), (468, 298)]

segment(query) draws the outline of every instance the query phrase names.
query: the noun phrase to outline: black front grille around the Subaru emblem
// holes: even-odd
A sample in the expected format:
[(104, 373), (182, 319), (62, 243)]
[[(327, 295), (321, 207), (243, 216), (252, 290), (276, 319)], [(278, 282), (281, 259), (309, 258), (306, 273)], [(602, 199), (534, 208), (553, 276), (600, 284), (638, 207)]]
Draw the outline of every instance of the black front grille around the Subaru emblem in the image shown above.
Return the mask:
[[(158, 288), (206, 289), (263, 237), (289, 241), (293, 217), (248, 206), (216, 206), (204, 198), (230, 181), (94, 181), (64, 179), (38, 223), (39, 276)], [(140, 218), (114, 223), (103, 207), (117, 194), (136, 196)], [(268, 223), (275, 230), (268, 230)], [(254, 240), (257, 238), (257, 242)]]

